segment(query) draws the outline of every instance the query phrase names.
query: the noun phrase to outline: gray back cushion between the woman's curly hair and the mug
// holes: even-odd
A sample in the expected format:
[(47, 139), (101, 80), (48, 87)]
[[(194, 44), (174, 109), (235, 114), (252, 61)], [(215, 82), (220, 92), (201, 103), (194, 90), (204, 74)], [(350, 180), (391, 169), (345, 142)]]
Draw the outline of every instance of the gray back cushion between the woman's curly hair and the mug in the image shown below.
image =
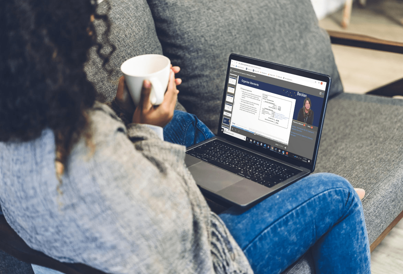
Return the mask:
[[(112, 28), (110, 41), (116, 46), (116, 51), (110, 58), (113, 69), (112, 75), (102, 69), (101, 60), (95, 48), (89, 52), (89, 61), (85, 65), (87, 78), (93, 83), (99, 100), (110, 101), (116, 94), (118, 79), (122, 76), (120, 65), (127, 59), (141, 54), (162, 54), (161, 44), (155, 31), (154, 20), (145, 0), (110, 0), (103, 1), (98, 6), (98, 13), (108, 13)], [(95, 21), (97, 33), (104, 31), (104, 24)], [(100, 35), (98, 35), (100, 36)]]

